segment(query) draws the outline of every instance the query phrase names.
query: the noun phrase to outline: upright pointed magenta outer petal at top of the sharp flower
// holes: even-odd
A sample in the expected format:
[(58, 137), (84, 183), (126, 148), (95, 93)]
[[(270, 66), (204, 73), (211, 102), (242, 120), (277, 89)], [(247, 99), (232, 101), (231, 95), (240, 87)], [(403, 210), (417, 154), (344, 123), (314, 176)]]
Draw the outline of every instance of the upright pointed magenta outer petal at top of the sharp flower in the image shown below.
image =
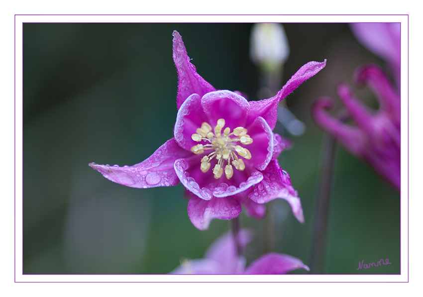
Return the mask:
[(173, 61), (178, 71), (178, 95), (176, 97), (178, 109), (194, 93), (203, 97), (206, 93), (216, 91), (191, 64), (182, 37), (177, 31), (173, 31)]

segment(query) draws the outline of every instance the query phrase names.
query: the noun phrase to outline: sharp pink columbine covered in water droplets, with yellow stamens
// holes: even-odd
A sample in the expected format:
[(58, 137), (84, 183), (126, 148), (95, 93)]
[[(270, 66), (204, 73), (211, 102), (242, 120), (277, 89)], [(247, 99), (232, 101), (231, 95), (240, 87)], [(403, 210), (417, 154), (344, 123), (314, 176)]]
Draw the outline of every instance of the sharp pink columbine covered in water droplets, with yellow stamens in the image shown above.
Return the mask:
[[(326, 64), (309, 62), (270, 99), (247, 101), (239, 92), (216, 91), (190, 62), (181, 35), (173, 33), (173, 60), (178, 71), (178, 113), (174, 138), (134, 166), (90, 166), (115, 183), (133, 188), (175, 186), (187, 189), (188, 215), (199, 229), (214, 218), (241, 212), (261, 218), (266, 203), (284, 198), (304, 223), (303, 209), (288, 173), (276, 158), (289, 145), (272, 132), (280, 100)], [(254, 187), (253, 187), (254, 186)]]

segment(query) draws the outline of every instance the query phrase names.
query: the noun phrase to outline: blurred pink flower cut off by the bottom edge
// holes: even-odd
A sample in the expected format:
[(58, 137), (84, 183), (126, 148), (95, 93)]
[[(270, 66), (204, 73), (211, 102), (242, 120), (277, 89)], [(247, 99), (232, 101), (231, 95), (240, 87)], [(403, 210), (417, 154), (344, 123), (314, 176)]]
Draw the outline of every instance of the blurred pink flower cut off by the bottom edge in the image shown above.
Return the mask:
[[(243, 248), (250, 240), (248, 230), (238, 233), (238, 242)], [(297, 269), (310, 271), (300, 259), (285, 254), (262, 255), (247, 268), (245, 262), (244, 257), (237, 255), (233, 234), (226, 233), (213, 242), (203, 259), (184, 260), (170, 274), (285, 274)]]

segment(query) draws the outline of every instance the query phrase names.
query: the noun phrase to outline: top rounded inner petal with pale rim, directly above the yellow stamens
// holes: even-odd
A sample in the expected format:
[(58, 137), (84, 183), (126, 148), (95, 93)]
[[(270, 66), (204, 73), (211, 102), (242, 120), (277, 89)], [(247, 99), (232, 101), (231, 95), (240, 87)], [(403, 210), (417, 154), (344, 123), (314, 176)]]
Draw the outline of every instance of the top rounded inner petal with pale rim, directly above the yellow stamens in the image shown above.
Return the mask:
[(247, 99), (227, 90), (208, 93), (201, 99), (201, 105), (213, 127), (219, 118), (225, 120), (225, 127), (233, 130), (245, 127), (246, 118), (250, 110)]

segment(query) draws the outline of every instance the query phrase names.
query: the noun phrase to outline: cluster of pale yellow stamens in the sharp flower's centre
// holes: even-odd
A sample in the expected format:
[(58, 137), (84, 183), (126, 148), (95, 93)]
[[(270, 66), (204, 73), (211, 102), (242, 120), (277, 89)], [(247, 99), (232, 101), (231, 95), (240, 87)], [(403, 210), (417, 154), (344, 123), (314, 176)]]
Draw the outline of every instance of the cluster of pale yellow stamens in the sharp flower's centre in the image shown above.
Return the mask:
[[(246, 148), (236, 144), (247, 145), (253, 142), (253, 139), (247, 134), (247, 129), (244, 127), (236, 127), (233, 132), (230, 128), (226, 127), (221, 133), (225, 125), (225, 120), (220, 118), (217, 120), (217, 125), (212, 132), (212, 126), (209, 123), (203, 122), (200, 128), (197, 128), (195, 134), (191, 136), (194, 141), (208, 141), (208, 144), (197, 144), (191, 148), (194, 154), (200, 155), (204, 151), (212, 150), (212, 152), (201, 159), (201, 171), (207, 172), (210, 169), (210, 161), (216, 158), (217, 164), (213, 168), (213, 175), (215, 179), (223, 175), (223, 166), (225, 162), (227, 165), (224, 167), (225, 176), (230, 179), (233, 175), (233, 168), (243, 171), (245, 169), (244, 161), (238, 158), (238, 155), (249, 160), (251, 153)], [(232, 165), (231, 165), (232, 164)]]

